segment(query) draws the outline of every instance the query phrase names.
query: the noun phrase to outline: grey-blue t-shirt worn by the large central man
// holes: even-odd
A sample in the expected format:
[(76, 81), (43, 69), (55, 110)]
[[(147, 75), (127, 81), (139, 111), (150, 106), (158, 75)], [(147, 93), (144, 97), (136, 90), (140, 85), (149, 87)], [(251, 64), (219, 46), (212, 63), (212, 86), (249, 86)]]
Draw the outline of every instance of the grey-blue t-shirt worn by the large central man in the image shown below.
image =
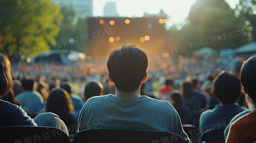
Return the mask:
[(173, 106), (147, 96), (125, 100), (109, 94), (88, 99), (78, 117), (78, 131), (90, 128), (167, 131), (188, 138)]

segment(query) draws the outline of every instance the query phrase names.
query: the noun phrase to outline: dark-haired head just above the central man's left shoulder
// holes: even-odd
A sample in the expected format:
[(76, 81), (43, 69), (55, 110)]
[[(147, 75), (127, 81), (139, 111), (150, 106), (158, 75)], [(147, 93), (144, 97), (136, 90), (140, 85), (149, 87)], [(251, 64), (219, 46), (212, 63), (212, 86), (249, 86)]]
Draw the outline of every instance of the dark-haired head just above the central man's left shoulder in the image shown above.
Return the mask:
[(84, 96), (86, 100), (91, 97), (102, 95), (103, 93), (103, 85), (99, 82), (92, 81), (86, 84), (84, 89)]

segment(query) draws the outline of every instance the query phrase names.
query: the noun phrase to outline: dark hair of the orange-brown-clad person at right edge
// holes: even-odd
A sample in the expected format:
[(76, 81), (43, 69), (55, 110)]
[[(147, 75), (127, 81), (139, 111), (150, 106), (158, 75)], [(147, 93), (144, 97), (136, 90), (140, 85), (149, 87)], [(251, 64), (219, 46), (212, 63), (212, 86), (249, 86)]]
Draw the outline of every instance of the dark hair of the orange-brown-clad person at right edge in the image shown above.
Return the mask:
[(240, 75), (249, 97), (256, 102), (256, 55), (243, 62)]

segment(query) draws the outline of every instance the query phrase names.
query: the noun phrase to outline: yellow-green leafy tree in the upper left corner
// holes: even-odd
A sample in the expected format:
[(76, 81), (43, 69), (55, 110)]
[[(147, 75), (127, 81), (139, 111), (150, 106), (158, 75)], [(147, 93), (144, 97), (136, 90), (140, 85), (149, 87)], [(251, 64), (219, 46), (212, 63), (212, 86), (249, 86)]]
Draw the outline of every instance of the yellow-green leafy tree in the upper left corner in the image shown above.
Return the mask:
[(52, 0), (1, 0), (0, 6), (0, 50), (37, 56), (34, 53), (46, 51), (55, 42), (63, 16)]

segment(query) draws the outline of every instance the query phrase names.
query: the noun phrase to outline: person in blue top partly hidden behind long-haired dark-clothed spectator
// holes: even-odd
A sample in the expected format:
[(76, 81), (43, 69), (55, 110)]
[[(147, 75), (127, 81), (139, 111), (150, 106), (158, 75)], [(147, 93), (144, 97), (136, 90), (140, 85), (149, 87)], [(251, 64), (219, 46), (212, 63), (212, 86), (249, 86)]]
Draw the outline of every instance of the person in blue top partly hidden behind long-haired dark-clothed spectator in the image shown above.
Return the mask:
[(72, 95), (72, 89), (71, 89), (71, 83), (69, 82), (63, 82), (60, 85), (60, 88), (63, 88), (67, 91), (68, 95), (71, 97), (74, 109), (75, 109), (75, 115), (78, 116), (83, 105), (84, 105), (84, 101), (82, 98)]

